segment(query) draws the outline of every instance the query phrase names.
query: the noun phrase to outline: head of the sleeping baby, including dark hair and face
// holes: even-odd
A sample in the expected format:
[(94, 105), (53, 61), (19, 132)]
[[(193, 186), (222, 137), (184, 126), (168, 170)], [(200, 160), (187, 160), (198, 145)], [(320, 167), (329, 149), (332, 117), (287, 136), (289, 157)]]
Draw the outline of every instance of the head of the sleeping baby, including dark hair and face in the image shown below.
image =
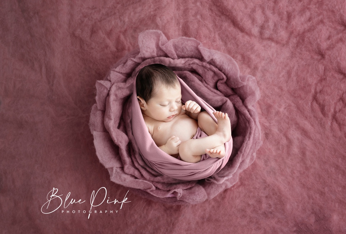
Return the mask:
[(180, 83), (168, 67), (151, 64), (140, 69), (137, 73), (136, 89), (143, 114), (168, 122), (180, 113)]

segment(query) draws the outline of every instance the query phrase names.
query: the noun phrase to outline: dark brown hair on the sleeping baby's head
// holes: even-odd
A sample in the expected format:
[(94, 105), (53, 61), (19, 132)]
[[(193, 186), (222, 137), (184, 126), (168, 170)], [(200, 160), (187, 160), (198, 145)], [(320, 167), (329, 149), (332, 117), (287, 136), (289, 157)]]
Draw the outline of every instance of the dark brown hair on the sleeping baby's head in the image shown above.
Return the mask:
[(158, 83), (168, 87), (179, 87), (180, 83), (174, 72), (162, 64), (151, 64), (137, 72), (137, 96), (147, 103), (154, 96), (154, 88)]

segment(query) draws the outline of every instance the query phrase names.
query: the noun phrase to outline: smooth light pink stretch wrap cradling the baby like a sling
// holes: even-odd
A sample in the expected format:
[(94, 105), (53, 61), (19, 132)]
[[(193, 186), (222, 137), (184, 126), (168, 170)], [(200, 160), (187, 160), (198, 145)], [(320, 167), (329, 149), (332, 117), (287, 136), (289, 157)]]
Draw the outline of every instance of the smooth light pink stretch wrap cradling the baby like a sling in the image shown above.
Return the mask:
[[(141, 68), (140, 66), (139, 68)], [(210, 116), (216, 121), (215, 116), (212, 114), (213, 109), (203, 99), (198, 97), (182, 79), (179, 79), (181, 85), (182, 101), (185, 103), (188, 100), (195, 101), (202, 109), (206, 110)], [(192, 181), (198, 179), (204, 179), (211, 176), (214, 173), (219, 172), (227, 163), (229, 156), (232, 152), (232, 139), (225, 143), (226, 156), (223, 158), (209, 157), (207, 160), (202, 160), (198, 163), (187, 163), (177, 158), (172, 157), (169, 154), (163, 152), (158, 148), (147, 130), (142, 112), (140, 111), (136, 86), (134, 85), (132, 95), (132, 130), (135, 137), (136, 145), (140, 154), (143, 156), (144, 161), (156, 172), (166, 176), (170, 176), (176, 179), (184, 181)], [(201, 131), (200, 131), (201, 132)], [(199, 133), (200, 134), (200, 133)], [(195, 134), (194, 138), (202, 137)], [(203, 159), (206, 156), (203, 156)]]

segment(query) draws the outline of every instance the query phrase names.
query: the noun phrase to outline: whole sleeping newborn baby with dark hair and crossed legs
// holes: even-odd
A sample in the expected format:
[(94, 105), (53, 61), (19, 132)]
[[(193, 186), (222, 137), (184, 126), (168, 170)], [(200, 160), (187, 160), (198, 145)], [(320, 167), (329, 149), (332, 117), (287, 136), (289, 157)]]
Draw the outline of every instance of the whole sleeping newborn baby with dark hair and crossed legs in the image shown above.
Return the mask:
[[(182, 104), (181, 87), (174, 72), (161, 64), (140, 69), (136, 78), (140, 109), (155, 144), (165, 153), (189, 163), (202, 154), (222, 158), (231, 139), (228, 115), (214, 111), (218, 123), (194, 101)], [(192, 139), (200, 128), (208, 136)]]

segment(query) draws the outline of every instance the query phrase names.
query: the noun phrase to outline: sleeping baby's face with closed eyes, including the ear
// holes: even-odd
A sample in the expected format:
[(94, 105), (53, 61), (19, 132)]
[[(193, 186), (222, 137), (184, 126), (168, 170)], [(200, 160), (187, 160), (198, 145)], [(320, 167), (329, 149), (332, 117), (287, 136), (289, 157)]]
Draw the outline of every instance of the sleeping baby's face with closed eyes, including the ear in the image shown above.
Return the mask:
[(145, 114), (159, 121), (172, 121), (181, 112), (181, 88), (157, 85), (156, 94), (146, 104)]

